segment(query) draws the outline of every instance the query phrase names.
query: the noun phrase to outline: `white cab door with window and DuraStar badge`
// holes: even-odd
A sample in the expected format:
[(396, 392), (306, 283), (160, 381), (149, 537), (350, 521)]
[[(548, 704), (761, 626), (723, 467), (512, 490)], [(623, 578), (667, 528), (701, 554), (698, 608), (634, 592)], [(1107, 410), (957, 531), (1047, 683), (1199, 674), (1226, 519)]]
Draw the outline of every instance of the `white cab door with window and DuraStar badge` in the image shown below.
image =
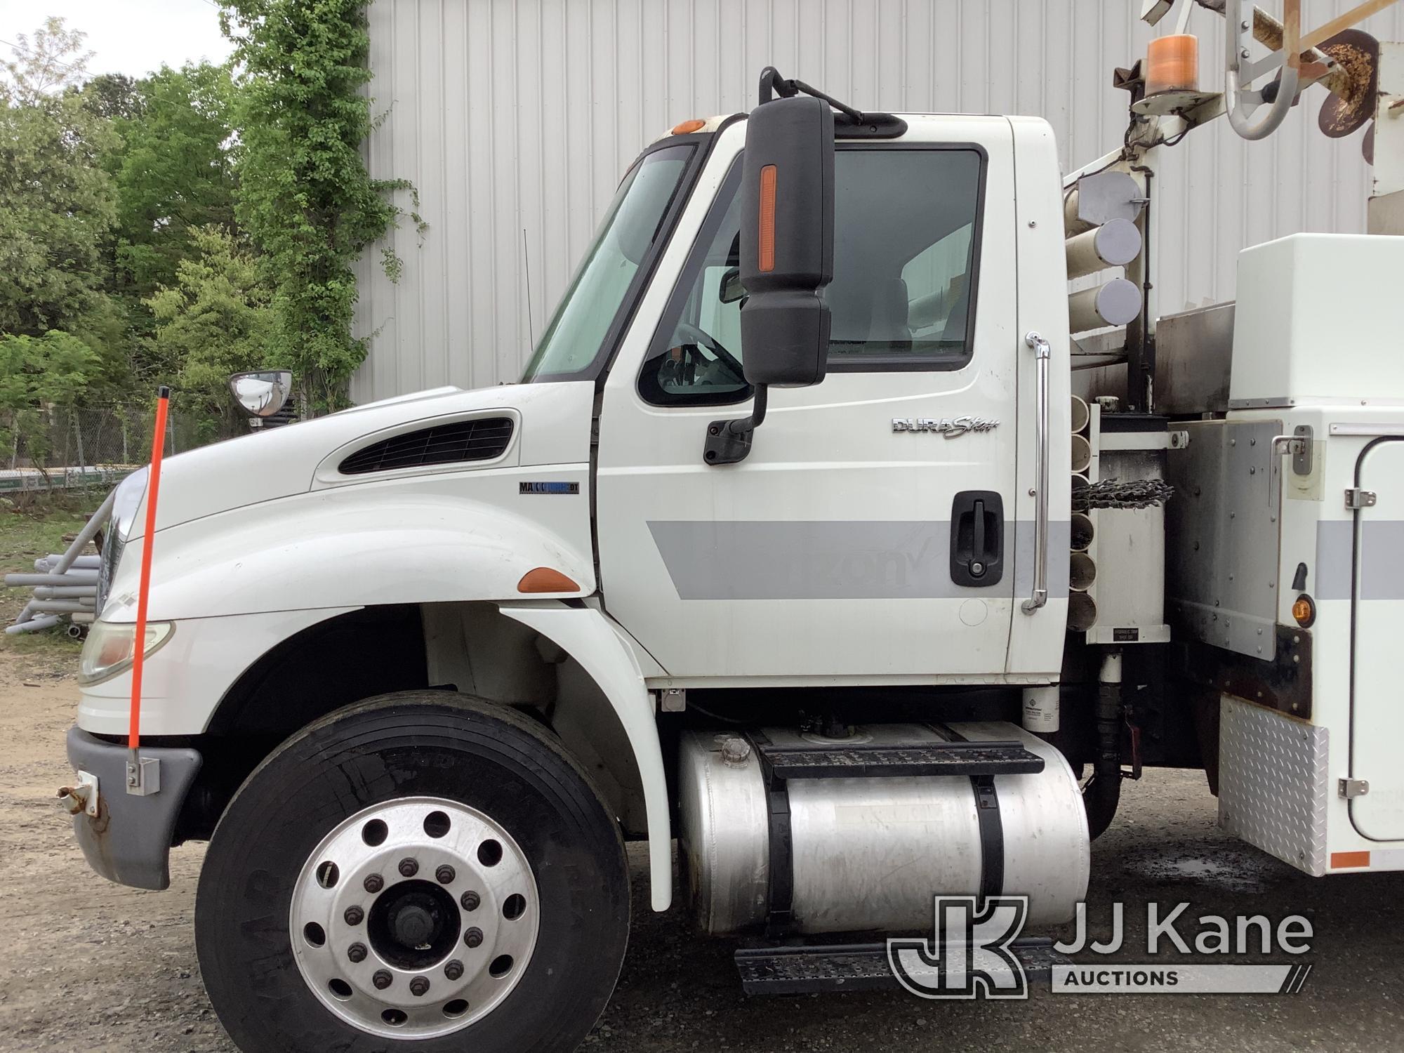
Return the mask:
[[(605, 383), (607, 611), (678, 678), (1002, 673), (1014, 592), (1011, 131), (910, 118), (841, 142), (828, 375), (772, 389), (750, 456), (702, 461), (751, 410), (740, 375), (740, 146), (724, 133)], [(694, 202), (695, 204), (695, 202)], [(689, 205), (689, 212), (692, 206)], [(664, 275), (668, 275), (664, 278)]]

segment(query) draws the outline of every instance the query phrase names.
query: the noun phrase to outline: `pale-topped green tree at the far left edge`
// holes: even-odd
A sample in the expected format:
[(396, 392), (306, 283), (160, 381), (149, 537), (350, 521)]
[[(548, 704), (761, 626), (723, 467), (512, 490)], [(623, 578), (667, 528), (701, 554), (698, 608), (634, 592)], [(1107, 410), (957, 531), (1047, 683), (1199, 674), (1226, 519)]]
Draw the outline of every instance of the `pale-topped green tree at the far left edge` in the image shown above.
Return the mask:
[(0, 333), (76, 329), (100, 307), (115, 138), (72, 90), (87, 58), (83, 34), (49, 18), (0, 74)]

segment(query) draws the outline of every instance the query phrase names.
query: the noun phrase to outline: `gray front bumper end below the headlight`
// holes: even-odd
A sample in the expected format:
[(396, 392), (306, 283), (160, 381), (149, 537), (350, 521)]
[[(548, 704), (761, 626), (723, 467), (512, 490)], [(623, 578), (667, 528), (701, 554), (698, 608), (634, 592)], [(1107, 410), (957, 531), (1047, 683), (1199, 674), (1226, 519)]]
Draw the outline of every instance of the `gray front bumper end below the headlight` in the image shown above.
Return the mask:
[[(80, 810), (73, 834), (88, 866), (118, 885), (170, 887), (171, 835), (201, 755), (197, 750), (142, 747), (142, 760), (160, 762), (160, 789), (146, 796), (126, 792), (125, 746), (69, 729), (69, 764), (97, 782), (95, 816)], [(91, 809), (90, 809), (91, 810)]]

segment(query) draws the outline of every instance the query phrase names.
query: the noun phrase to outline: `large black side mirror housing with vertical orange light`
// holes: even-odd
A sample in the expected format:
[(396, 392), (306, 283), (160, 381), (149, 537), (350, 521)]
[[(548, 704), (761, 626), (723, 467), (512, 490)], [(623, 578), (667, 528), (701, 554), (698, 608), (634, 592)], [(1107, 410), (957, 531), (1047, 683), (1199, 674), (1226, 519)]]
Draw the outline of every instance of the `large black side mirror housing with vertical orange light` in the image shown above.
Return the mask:
[[(796, 95), (762, 102), (746, 126), (741, 361), (757, 385), (824, 379), (834, 278), (834, 111)], [(724, 286), (723, 286), (724, 295)]]

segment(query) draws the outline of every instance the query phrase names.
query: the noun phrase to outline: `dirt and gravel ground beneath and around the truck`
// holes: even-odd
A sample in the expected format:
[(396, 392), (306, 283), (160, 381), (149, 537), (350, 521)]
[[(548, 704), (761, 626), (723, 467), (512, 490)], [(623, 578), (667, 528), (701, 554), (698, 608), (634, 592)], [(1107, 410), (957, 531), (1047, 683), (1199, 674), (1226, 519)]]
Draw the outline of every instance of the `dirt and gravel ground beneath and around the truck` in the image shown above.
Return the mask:
[[(0, 651), (0, 1049), (233, 1053), (191, 938), (202, 848), (174, 852), (168, 892), (121, 889), (87, 869), (55, 804), (74, 699), (52, 660)], [(1297, 995), (1077, 997), (1036, 986), (1016, 1004), (904, 993), (747, 998), (730, 945), (695, 935), (681, 911), (649, 913), (637, 848), (632, 859), (633, 941), (587, 1049), (1404, 1049), (1404, 873), (1299, 875), (1221, 837), (1193, 772), (1127, 786), (1116, 826), (1095, 845), (1092, 918), (1105, 928), (1106, 904), (1126, 901), (1129, 942), (1143, 949), (1147, 900), (1188, 900), (1192, 915), (1306, 914), (1316, 967)]]

